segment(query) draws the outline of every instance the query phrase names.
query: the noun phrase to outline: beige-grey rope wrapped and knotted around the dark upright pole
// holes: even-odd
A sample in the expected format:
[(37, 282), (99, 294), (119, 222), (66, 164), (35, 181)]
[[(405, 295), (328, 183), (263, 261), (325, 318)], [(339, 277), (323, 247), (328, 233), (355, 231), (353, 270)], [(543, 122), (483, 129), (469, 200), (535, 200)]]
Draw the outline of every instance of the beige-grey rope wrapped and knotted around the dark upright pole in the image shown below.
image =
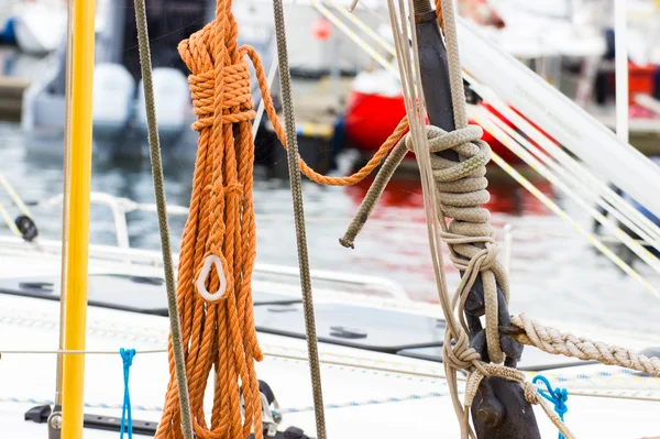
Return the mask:
[[(397, 14), (393, 0), (388, 0), (388, 6), (406, 109), (410, 121), (410, 133), (395, 146), (374, 185), (370, 188), (358, 216), (340, 241), (346, 246), (353, 245), (355, 234), (364, 226), (384, 186), (392, 177), (392, 173), (402, 162), (406, 150), (414, 151), (420, 167), (429, 245), (439, 299), (447, 320), (443, 359), (448, 385), (454, 409), (461, 420), (461, 436), (462, 438), (474, 438), (474, 432), (469, 424), (469, 411), (465, 409), (471, 404), (471, 399), (469, 397), (468, 405), (462, 405), (459, 399), (458, 370), (468, 370), (473, 376), (479, 377), (473, 384), (474, 392), (484, 376), (497, 375), (519, 383), (524, 383), (525, 378), (515, 370), (493, 364), (502, 363), (505, 360), (499, 345), (497, 285), (499, 284), (502, 287), (505, 301), (508, 301), (508, 281), (506, 272), (496, 259), (497, 245), (493, 239), (493, 229), (488, 223), (490, 212), (481, 207), (490, 199), (486, 190), (485, 165), (491, 158), (491, 150), (486, 143), (480, 140), (483, 134), (482, 129), (468, 125), (452, 0), (442, 0), (443, 28), (447, 31), (452, 103), (457, 124), (457, 129), (450, 133), (439, 128), (424, 125), (426, 103), (419, 78), (415, 21), (410, 18), (411, 59), (405, 11), (400, 10)], [(400, 17), (400, 22), (397, 15)], [(449, 161), (435, 154), (449, 149), (458, 154), (459, 162)], [(446, 217), (452, 218), (449, 226)], [(464, 272), (457, 293), (451, 298), (440, 254), (441, 241), (448, 244), (452, 263)], [(470, 347), (469, 328), (463, 314), (468, 295), (480, 274), (484, 287), (487, 350), (493, 362), (490, 364), (482, 362), (480, 354)], [(532, 396), (526, 384), (522, 387), (528, 402), (538, 403), (538, 398), (535, 398), (538, 395), (534, 393)], [(546, 411), (548, 413), (548, 410)], [(549, 415), (554, 414), (550, 413)]]

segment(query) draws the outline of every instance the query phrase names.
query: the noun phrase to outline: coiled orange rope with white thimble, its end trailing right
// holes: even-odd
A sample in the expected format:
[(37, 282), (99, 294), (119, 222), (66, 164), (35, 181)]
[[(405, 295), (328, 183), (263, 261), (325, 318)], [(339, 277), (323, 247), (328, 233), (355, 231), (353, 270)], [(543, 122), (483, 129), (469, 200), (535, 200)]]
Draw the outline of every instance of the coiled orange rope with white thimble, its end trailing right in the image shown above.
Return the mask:
[[(257, 439), (263, 437), (254, 370), (254, 362), (263, 355), (254, 329), (251, 286), (256, 255), (251, 134), (255, 113), (245, 55), (254, 64), (265, 110), (286, 147), (261, 61), (252, 47), (238, 47), (231, 3), (218, 0), (216, 19), (178, 47), (191, 72), (188, 81), (197, 116), (193, 129), (199, 132), (177, 285), (193, 427), (198, 439), (244, 439), (251, 431)], [(407, 128), (404, 118), (374, 157), (351, 176), (327, 177), (304, 161), (300, 167), (319, 184), (353, 185), (378, 166)], [(168, 350), (170, 380), (156, 439), (183, 437), (172, 342)], [(216, 382), (208, 425), (204, 397), (211, 373)]]

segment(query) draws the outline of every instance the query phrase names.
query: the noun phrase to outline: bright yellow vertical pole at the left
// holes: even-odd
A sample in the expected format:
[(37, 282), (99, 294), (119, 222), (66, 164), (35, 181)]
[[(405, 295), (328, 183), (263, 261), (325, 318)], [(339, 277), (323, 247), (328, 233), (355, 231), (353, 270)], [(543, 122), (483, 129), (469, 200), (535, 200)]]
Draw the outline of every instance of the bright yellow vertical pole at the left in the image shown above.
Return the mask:
[[(66, 274), (64, 349), (85, 350), (96, 0), (73, 0), (73, 7), (70, 202), (67, 231), (68, 270)], [(82, 437), (85, 355), (65, 355), (63, 372), (62, 437), (63, 439), (80, 439)]]

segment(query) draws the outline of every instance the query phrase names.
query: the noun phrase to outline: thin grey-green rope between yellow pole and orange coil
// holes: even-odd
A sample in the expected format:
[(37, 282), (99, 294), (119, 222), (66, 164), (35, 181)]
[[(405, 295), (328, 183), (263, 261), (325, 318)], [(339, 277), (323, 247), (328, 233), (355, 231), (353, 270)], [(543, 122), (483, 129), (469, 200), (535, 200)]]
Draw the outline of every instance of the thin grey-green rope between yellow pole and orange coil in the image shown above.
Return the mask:
[(154, 191), (158, 210), (158, 230), (161, 232), (161, 249), (163, 251), (163, 267), (165, 271), (165, 285), (167, 287), (167, 309), (172, 332), (172, 348), (176, 370), (179, 404), (182, 408), (182, 429), (185, 439), (193, 439), (193, 419), (190, 416), (190, 397), (186, 377), (186, 363), (182, 341), (180, 320), (176, 299), (174, 281), (174, 263), (172, 261), (172, 245), (169, 243), (169, 226), (167, 223), (167, 201), (165, 200), (165, 186), (163, 178), (163, 163), (161, 160), (161, 141), (156, 121), (156, 105), (154, 99), (154, 85), (151, 64), (151, 50), (148, 46), (148, 28), (146, 24), (146, 8), (144, 0), (135, 0), (135, 23), (138, 26), (138, 43), (140, 47), (140, 66), (144, 84), (144, 102), (146, 108), (146, 124), (148, 132), (148, 147), (154, 178)]

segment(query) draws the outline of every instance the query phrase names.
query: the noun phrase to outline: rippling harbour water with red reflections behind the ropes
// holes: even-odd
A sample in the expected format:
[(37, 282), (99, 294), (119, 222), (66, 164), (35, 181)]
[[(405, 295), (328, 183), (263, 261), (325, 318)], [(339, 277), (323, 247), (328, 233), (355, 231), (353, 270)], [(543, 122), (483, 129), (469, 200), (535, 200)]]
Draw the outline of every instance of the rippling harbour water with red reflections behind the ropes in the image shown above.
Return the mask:
[[(145, 147), (145, 145), (135, 145)], [(94, 155), (92, 190), (154, 202), (147, 160), (118, 161), (97, 145)], [(191, 189), (193, 163), (179, 145), (165, 155), (165, 178), (169, 204), (186, 206)], [(0, 171), (24, 200), (44, 199), (62, 191), (62, 142), (35, 141), (24, 136), (14, 124), (0, 125)], [(257, 169), (258, 171), (258, 169)], [(496, 171), (496, 169), (493, 169)], [(293, 210), (288, 183), (257, 178), (254, 202), (257, 218), (257, 261), (297, 266)], [(494, 174), (490, 171), (490, 175)], [(591, 228), (591, 220), (576, 206), (554, 194), (552, 187), (535, 180), (579, 222)], [(383, 276), (400, 283), (408, 295), (421, 301), (437, 297), (430, 265), (421, 189), (413, 178), (391, 183), (372, 218), (355, 242), (354, 250), (342, 248), (350, 217), (355, 212), (370, 182), (355, 187), (319, 187), (306, 182), (305, 210), (312, 268)], [(510, 179), (497, 178), (491, 185), (493, 223), (502, 230), (513, 226), (510, 279), (512, 312), (526, 311), (540, 319), (573, 321), (639, 331), (658, 331), (660, 303), (651, 293), (596, 254), (573, 227), (554, 217), (529, 193)], [(10, 206), (8, 197), (0, 200)], [(18, 215), (12, 208), (12, 215)], [(61, 208), (35, 208), (42, 235), (58, 238)], [(91, 241), (116, 242), (112, 218), (102, 207), (91, 212)], [(131, 244), (158, 249), (154, 213), (135, 212), (129, 218)], [(172, 217), (173, 244), (178, 246), (184, 218)], [(4, 229), (2, 232), (7, 232)], [(642, 275), (658, 285), (650, 270), (636, 264)], [(647, 270), (645, 270), (647, 268)], [(458, 283), (457, 271), (448, 265), (450, 286)]]

